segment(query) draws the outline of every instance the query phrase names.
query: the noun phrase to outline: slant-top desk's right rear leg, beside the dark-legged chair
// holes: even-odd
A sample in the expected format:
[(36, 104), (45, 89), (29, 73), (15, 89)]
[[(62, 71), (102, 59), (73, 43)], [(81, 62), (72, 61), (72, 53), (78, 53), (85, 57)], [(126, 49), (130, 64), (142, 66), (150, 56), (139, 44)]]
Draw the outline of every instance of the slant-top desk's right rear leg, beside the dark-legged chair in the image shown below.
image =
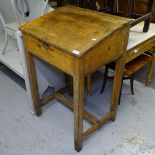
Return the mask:
[(112, 121), (115, 121), (116, 119), (124, 65), (125, 65), (125, 54), (122, 55), (116, 61), (116, 69), (115, 69), (115, 76), (114, 76), (114, 83), (113, 83), (113, 90), (112, 90), (112, 103), (111, 103), (111, 109), (110, 109), (113, 114)]

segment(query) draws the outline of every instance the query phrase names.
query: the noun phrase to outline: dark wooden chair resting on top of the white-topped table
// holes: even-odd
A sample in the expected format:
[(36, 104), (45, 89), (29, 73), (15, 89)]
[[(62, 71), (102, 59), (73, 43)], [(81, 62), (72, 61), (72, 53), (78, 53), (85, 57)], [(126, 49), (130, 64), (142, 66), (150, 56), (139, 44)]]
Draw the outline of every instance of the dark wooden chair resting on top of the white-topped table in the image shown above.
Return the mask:
[[(100, 1), (102, 0), (98, 0), (99, 3)], [(136, 21), (131, 23), (131, 26), (134, 26), (137, 23), (144, 21), (143, 32), (147, 32), (149, 30), (149, 25), (151, 22), (151, 16), (154, 8), (154, 0), (148, 0), (147, 9), (146, 9), (147, 11), (145, 15), (139, 14), (135, 10), (136, 4), (142, 3), (143, 2), (142, 0), (124, 0), (123, 2), (124, 3), (126, 2), (126, 5), (127, 5), (126, 12), (120, 11), (121, 5), (119, 0), (104, 0), (104, 4), (102, 4), (104, 5), (104, 7), (99, 11), (136, 19)]]

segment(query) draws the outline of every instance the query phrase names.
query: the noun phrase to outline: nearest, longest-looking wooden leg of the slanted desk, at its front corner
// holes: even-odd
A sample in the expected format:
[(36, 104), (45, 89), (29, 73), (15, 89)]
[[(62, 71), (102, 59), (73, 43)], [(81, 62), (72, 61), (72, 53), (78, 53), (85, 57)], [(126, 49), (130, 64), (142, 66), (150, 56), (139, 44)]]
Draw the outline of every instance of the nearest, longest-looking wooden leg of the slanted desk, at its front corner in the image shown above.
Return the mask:
[(75, 69), (73, 76), (74, 90), (74, 143), (75, 150), (82, 149), (83, 134), (83, 103), (84, 103), (84, 74), (79, 60), (75, 60)]

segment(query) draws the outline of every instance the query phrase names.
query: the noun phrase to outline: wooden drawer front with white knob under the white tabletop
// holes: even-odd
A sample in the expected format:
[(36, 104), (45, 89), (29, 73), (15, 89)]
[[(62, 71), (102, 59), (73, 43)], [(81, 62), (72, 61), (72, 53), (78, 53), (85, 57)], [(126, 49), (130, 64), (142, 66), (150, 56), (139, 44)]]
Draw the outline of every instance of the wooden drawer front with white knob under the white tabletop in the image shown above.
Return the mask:
[(143, 54), (145, 51), (151, 50), (153, 47), (155, 47), (155, 37), (127, 51), (126, 63)]

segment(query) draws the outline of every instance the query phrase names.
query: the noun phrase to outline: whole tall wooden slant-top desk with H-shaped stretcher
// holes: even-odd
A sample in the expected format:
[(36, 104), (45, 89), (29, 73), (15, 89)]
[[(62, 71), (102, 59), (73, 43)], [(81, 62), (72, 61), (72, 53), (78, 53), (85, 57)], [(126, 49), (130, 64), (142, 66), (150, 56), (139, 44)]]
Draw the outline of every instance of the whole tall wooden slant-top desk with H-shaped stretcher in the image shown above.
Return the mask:
[[(39, 116), (41, 107), (54, 98), (74, 109), (74, 141), (77, 151), (82, 149), (83, 140), (90, 134), (108, 120), (116, 118), (129, 22), (126, 18), (66, 6), (20, 28), (36, 115)], [(43, 99), (39, 98), (34, 57), (73, 77), (73, 101), (62, 95), (69, 90), (67, 86)], [(111, 109), (99, 120), (84, 111), (84, 78), (114, 60), (116, 74)], [(83, 118), (93, 124), (84, 133)]]

